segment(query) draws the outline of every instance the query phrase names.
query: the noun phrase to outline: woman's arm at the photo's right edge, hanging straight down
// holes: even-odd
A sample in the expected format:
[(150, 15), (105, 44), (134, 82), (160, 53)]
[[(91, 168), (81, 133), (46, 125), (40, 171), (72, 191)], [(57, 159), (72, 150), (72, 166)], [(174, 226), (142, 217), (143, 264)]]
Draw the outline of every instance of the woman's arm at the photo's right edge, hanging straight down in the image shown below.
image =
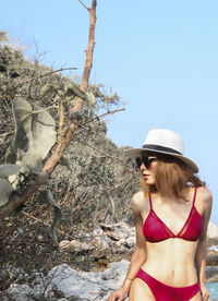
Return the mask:
[(206, 268), (206, 255), (207, 255), (207, 227), (210, 218), (211, 213), (211, 203), (213, 196), (208, 189), (202, 189), (199, 195), (203, 204), (203, 232), (198, 240), (196, 255), (195, 255), (195, 266), (197, 272), (198, 282), (201, 285), (203, 297), (206, 294), (206, 276), (205, 276), (205, 268)]

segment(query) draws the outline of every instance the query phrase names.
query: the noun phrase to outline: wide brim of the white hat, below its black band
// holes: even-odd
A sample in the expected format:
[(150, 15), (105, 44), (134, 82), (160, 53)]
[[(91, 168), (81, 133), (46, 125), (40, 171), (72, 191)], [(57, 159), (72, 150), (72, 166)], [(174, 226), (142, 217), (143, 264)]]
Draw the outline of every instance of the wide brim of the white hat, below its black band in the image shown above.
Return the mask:
[(169, 155), (169, 156), (172, 156), (172, 157), (177, 157), (179, 158), (180, 160), (182, 160), (183, 162), (185, 162), (194, 173), (197, 173), (198, 172), (198, 167), (195, 162), (193, 162), (191, 159), (184, 157), (183, 155), (180, 155), (180, 154), (172, 154), (172, 153), (169, 153), (169, 152), (164, 152), (164, 150), (157, 150), (157, 149), (150, 149), (150, 148), (130, 148), (130, 149), (126, 149), (125, 150), (125, 154), (131, 157), (131, 158), (138, 158), (141, 157), (142, 153), (144, 152), (152, 152), (152, 153), (159, 153), (159, 154), (166, 154), (166, 155)]

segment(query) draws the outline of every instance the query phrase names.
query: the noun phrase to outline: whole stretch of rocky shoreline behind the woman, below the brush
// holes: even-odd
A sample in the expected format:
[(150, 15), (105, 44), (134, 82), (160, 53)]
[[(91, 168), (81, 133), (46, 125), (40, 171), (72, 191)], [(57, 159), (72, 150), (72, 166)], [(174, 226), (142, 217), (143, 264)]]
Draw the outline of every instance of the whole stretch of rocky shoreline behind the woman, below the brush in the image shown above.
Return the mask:
[[(134, 245), (134, 228), (124, 222), (100, 224), (88, 234), (81, 231), (76, 240), (61, 241), (59, 249), (63, 253), (76, 253), (81, 261), (88, 254), (92, 272), (76, 270), (68, 264), (58, 265), (46, 275), (27, 275), (12, 268), (11, 274), (20, 273), (20, 281), (0, 292), (0, 300), (106, 301), (111, 291), (121, 287)], [(208, 239), (208, 246), (211, 245), (218, 245), (218, 239)], [(4, 277), (3, 272), (1, 277)], [(208, 251), (206, 279), (218, 282), (217, 251)]]

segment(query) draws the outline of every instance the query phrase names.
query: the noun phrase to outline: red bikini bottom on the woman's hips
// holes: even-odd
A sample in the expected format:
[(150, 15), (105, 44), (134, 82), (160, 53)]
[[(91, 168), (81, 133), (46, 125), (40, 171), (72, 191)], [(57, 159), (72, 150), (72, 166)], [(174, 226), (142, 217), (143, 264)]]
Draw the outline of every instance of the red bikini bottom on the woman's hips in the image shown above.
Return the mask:
[(199, 291), (197, 282), (182, 288), (166, 286), (142, 268), (137, 272), (135, 278), (142, 279), (149, 287), (156, 301), (189, 301)]

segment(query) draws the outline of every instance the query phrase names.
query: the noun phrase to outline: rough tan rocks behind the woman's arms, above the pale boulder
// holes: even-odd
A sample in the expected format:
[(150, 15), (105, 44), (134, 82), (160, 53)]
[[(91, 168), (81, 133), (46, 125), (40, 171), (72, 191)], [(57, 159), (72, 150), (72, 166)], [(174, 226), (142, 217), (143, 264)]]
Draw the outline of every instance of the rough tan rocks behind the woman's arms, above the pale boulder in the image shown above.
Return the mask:
[[(130, 261), (135, 248), (135, 229), (124, 222), (116, 225), (99, 224), (92, 233), (81, 231), (77, 240), (63, 240), (59, 243), (63, 252), (80, 253), (81, 260), (88, 253), (89, 270), (99, 272), (112, 262)], [(218, 237), (208, 237), (207, 266), (218, 266), (218, 251), (209, 250), (218, 245)]]

